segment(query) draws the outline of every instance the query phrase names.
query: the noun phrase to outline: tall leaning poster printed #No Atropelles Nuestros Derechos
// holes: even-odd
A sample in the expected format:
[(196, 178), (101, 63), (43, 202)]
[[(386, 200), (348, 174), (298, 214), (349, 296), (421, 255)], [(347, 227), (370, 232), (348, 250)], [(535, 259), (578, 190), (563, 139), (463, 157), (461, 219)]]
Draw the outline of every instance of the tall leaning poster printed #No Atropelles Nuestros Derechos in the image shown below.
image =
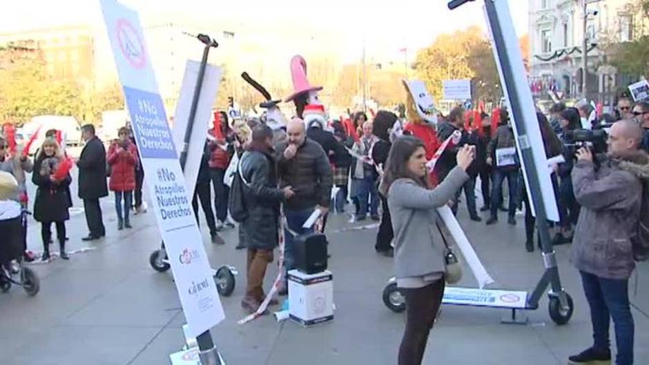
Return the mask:
[(159, 95), (137, 12), (100, 0), (133, 134), (153, 197), (188, 333), (200, 335), (225, 315), (188, 198), (177, 146)]

